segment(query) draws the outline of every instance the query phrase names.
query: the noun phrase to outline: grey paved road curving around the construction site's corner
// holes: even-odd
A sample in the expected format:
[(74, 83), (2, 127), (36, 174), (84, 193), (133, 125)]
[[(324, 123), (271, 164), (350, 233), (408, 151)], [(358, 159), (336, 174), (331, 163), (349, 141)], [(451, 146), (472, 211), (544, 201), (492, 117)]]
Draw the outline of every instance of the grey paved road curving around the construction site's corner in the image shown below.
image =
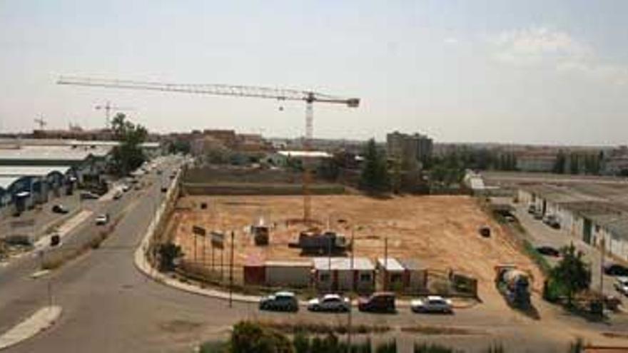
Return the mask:
[[(161, 186), (158, 178), (165, 178), (168, 173), (165, 171), (160, 177), (148, 175), (154, 182), (150, 188), (108, 206), (112, 213), (123, 212), (125, 216), (98, 250), (39, 280), (28, 277), (36, 267), (32, 261), (25, 261), (12, 271), (0, 272), (0, 332), (46, 305), (49, 279), (54, 303), (64, 308), (59, 323), (52, 329), (6, 352), (191, 352), (198, 342), (226, 337), (228, 328), (244, 318), (345, 322), (346, 314), (310, 314), (304, 310), (296, 314), (258, 312), (256, 305), (240, 303), (230, 309), (221, 300), (181, 292), (141, 275), (133, 265), (133, 251), (151, 220), (156, 201), (163, 197), (158, 190)], [(73, 236), (93, 229), (91, 223), (83, 225)], [(567, 341), (584, 330), (628, 329), (628, 324), (622, 321), (610, 325), (588, 324), (542, 302), (538, 302), (538, 307), (541, 321), (504, 310), (503, 303), (487, 303), (452, 316), (407, 311), (395, 315), (355, 312), (353, 321), (397, 328), (420, 324), (470, 327), (476, 334), (457, 337), (395, 334), (406, 340), (430, 338), (477, 349), (485, 349), (489, 342), (500, 340), (507, 344), (508, 352), (548, 352), (548, 349), (564, 352)]]

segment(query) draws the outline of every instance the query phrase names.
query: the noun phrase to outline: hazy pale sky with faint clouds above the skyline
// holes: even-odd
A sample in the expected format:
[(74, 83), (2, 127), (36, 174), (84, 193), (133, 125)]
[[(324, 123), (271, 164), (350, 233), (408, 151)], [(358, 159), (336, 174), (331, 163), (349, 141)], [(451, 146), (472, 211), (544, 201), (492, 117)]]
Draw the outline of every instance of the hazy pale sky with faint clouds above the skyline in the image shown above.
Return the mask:
[[(305, 104), (56, 84), (61, 75), (358, 97), (317, 138), (617, 145), (628, 134), (623, 0), (0, 0), (0, 131), (101, 128), (298, 137)], [(283, 108), (283, 109), (282, 109)]]

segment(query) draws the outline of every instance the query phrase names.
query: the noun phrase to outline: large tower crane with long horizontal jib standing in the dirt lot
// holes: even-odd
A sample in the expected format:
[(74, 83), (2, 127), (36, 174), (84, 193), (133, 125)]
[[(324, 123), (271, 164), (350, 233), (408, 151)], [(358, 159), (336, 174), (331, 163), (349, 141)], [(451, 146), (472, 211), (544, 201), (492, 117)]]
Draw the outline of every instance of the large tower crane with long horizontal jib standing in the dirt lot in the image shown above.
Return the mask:
[[(129, 88), (148, 91), (168, 91), (181, 93), (210, 94), (216, 96), (238, 96), (253, 98), (270, 98), (278, 101), (304, 101), (305, 102), (305, 140), (303, 147), (311, 150), (313, 137), (314, 103), (337, 103), (350, 108), (360, 105), (360, 98), (342, 98), (313, 91), (300, 91), (294, 89), (268, 88), (256, 86), (233, 86), (224, 84), (181, 84), (142, 82), (128, 80), (113, 80), (103, 78), (79, 78), (61, 76), (57, 81), (60, 85), (94, 86), (106, 88)], [(306, 160), (307, 158), (304, 158)], [(310, 168), (309, 163), (304, 163), (303, 172), (303, 221), (308, 223), (311, 218), (310, 198)]]

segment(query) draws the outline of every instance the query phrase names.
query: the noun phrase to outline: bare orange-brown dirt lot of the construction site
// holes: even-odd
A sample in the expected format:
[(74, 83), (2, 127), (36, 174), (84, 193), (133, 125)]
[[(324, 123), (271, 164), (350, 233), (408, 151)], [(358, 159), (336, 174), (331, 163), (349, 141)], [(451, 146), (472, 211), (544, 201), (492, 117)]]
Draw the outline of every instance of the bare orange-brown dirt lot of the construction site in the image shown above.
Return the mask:
[[(207, 208), (201, 210), (201, 203)], [(388, 255), (419, 260), (430, 269), (458, 270), (477, 277), (482, 292), (495, 294), (494, 266), (514, 263), (532, 274), (535, 291), (542, 286), (542, 275), (522, 254), (500, 225), (492, 221), (467, 196), (405, 196), (388, 200), (362, 195), (313, 196), (313, 216), (337, 232), (351, 236), (355, 228), (355, 256), (375, 260), (383, 257), (388, 237)], [(183, 247), (186, 260), (193, 260), (192, 226), (211, 230), (236, 231), (236, 268), (250, 259), (298, 260), (300, 251), (288, 247), (302, 224), (287, 225), (301, 218), (300, 196), (188, 196), (181, 198), (171, 222), (171, 236)], [(245, 229), (260, 218), (274, 225), (270, 245), (258, 247)], [(489, 225), (491, 237), (480, 237), (477, 230)], [(205, 264), (210, 263), (211, 247), (205, 245)], [(228, 247), (228, 245), (227, 245)], [(203, 259), (201, 238), (197, 239), (196, 261)], [(216, 251), (216, 263), (219, 259)], [(228, 250), (225, 252), (228, 259)], [(228, 260), (225, 260), (228, 261)]]

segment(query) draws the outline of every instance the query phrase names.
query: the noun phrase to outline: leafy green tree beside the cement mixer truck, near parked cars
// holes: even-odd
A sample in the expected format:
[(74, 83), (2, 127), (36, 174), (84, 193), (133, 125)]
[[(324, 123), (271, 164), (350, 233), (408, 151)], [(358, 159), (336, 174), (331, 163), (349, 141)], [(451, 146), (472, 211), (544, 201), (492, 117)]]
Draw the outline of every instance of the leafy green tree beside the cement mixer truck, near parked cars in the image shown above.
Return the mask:
[(557, 282), (564, 288), (567, 295), (567, 305), (572, 305), (575, 294), (589, 288), (591, 282), (591, 270), (589, 265), (582, 260), (581, 251), (576, 251), (573, 243), (563, 247), (562, 259), (550, 272), (550, 280)]

